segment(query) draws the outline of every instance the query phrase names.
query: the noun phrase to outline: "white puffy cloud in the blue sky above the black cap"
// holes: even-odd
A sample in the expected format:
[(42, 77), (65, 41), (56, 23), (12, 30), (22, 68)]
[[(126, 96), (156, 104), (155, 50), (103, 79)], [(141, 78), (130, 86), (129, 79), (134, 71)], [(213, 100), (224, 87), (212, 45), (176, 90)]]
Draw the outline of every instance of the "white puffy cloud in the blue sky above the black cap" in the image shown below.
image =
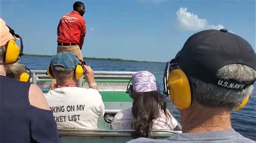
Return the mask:
[(190, 13), (187, 11), (187, 8), (179, 8), (177, 11), (177, 20), (179, 26), (183, 30), (205, 30), (205, 29), (216, 29), (220, 30), (224, 28), (223, 25), (211, 25), (208, 24), (206, 19), (199, 18), (198, 15)]

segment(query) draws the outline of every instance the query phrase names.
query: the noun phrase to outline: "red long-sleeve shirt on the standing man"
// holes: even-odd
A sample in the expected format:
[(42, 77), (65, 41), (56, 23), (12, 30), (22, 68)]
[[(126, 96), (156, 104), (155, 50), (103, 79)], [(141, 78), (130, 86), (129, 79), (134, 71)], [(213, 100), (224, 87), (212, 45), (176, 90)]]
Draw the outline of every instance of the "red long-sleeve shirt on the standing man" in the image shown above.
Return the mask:
[(57, 42), (78, 44), (82, 49), (86, 34), (85, 19), (73, 10), (59, 20), (57, 34)]

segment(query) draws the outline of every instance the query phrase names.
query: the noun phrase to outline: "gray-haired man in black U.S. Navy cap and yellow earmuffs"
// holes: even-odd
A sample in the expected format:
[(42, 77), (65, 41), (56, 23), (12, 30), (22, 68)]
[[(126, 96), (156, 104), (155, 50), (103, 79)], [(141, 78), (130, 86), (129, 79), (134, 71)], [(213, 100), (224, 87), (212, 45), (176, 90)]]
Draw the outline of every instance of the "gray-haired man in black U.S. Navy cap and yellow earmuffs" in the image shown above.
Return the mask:
[(164, 74), (165, 94), (179, 109), (183, 133), (130, 142), (255, 142), (231, 125), (231, 112), (252, 95), (255, 68), (252, 46), (238, 35), (225, 29), (193, 34)]

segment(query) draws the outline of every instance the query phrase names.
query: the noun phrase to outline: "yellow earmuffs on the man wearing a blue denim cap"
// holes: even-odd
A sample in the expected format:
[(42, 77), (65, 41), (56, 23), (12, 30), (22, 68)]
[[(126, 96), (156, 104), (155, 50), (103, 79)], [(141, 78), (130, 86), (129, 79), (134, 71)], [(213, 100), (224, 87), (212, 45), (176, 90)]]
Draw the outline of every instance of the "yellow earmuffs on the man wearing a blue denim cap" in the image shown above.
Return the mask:
[[(78, 59), (77, 56), (76, 56), (76, 58)], [(79, 63), (76, 66), (76, 68), (74, 69), (74, 71), (75, 71), (74, 73), (75, 73), (75, 77), (76, 77), (77, 80), (84, 75), (84, 62), (82, 60), (79, 60)], [(48, 75), (52, 79), (55, 78), (53, 76), (53, 73), (52, 73), (51, 65), (48, 66), (47, 71), (46, 71), (45, 74)]]

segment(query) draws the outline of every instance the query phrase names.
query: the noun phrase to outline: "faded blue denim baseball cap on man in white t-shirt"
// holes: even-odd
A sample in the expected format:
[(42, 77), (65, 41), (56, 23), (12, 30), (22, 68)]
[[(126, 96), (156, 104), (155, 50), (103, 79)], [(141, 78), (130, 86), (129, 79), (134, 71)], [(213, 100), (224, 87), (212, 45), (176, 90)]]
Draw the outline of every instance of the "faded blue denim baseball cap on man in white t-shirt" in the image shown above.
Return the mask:
[(52, 70), (54, 70), (55, 66), (62, 66), (65, 69), (65, 73), (75, 70), (78, 64), (77, 56), (71, 52), (62, 52), (54, 55), (50, 63)]

